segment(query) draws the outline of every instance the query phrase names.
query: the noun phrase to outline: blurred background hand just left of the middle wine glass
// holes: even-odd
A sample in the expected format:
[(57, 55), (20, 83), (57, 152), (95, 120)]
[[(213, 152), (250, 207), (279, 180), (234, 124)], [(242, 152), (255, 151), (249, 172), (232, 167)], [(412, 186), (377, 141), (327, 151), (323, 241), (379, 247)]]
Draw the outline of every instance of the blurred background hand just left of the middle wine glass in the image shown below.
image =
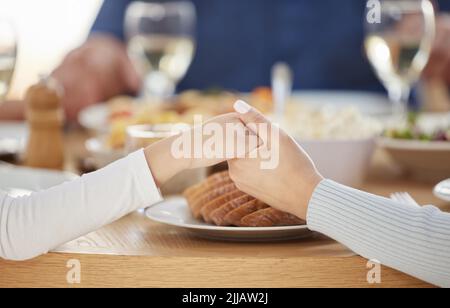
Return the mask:
[(124, 44), (106, 35), (92, 36), (69, 53), (52, 77), (64, 87), (63, 104), (69, 120), (76, 120), (86, 106), (137, 93), (141, 87)]

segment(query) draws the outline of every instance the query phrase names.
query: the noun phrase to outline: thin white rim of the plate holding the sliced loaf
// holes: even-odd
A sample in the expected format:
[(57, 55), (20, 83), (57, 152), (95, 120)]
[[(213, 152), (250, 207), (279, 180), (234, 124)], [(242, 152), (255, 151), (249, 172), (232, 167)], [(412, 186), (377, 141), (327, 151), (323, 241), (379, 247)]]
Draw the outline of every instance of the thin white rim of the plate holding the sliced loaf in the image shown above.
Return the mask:
[(183, 223), (175, 223), (168, 222), (164, 219), (159, 219), (150, 215), (151, 210), (153, 210), (157, 206), (161, 206), (162, 204), (174, 200), (183, 200), (186, 202), (186, 199), (183, 197), (170, 197), (161, 201), (157, 204), (154, 204), (147, 209), (145, 209), (145, 216), (155, 222), (162, 223), (169, 226), (175, 226), (179, 228), (191, 229), (191, 230), (204, 230), (204, 231), (231, 231), (231, 232), (277, 232), (277, 231), (297, 231), (308, 229), (308, 226), (299, 225), (299, 226), (285, 226), (285, 227), (220, 227), (214, 225), (194, 225), (194, 224), (183, 224)]

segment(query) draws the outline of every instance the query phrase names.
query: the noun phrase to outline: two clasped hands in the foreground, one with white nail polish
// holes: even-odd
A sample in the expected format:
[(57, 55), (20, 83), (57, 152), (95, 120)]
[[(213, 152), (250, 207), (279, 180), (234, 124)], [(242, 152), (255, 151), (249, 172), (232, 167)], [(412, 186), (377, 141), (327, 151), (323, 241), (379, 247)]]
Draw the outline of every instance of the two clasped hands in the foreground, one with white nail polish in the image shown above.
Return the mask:
[[(235, 109), (237, 113), (216, 117), (146, 148), (147, 162), (157, 185), (163, 185), (183, 170), (209, 167), (228, 160), (230, 176), (240, 190), (305, 220), (309, 201), (323, 180), (322, 176), (302, 148), (260, 112), (244, 102), (236, 103)], [(207, 144), (211, 138), (217, 140), (218, 137), (208, 132), (207, 127), (211, 124), (216, 126), (216, 133), (224, 132), (219, 134), (219, 148), (226, 151), (232, 140), (235, 147), (233, 151), (228, 148), (227, 155), (208, 156)], [(234, 125), (233, 134), (229, 134), (227, 125)], [(251, 137), (256, 142), (251, 142)], [(185, 157), (176, 157), (173, 152), (174, 144), (180, 140), (188, 140), (192, 145)], [(202, 141), (198, 144), (196, 140)], [(280, 158), (273, 168), (262, 168), (267, 153), (276, 153)]]

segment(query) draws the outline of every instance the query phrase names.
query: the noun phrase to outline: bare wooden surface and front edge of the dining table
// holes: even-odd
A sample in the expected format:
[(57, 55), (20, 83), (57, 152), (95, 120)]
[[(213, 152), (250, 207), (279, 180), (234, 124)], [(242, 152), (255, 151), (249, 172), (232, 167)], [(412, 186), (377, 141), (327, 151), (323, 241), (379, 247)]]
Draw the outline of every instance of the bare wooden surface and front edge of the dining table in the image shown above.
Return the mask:
[[(86, 156), (87, 137), (80, 130), (67, 134), (68, 170)], [(405, 176), (382, 150), (361, 187), (383, 196), (407, 191), (420, 204), (450, 211), (432, 188)], [(368, 260), (319, 234), (285, 242), (213, 241), (137, 211), (34, 260), (0, 261), (0, 287), (433, 287), (384, 266), (381, 281), (369, 283), (372, 269)]]

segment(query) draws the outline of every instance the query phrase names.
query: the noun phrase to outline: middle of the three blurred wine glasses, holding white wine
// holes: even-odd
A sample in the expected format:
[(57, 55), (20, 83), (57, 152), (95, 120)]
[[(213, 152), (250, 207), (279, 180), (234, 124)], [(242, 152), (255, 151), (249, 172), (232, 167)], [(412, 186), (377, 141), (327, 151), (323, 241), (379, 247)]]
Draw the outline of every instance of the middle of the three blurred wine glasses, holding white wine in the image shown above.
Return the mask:
[(143, 96), (175, 93), (195, 52), (196, 11), (191, 2), (133, 2), (125, 15), (128, 53), (144, 78)]

